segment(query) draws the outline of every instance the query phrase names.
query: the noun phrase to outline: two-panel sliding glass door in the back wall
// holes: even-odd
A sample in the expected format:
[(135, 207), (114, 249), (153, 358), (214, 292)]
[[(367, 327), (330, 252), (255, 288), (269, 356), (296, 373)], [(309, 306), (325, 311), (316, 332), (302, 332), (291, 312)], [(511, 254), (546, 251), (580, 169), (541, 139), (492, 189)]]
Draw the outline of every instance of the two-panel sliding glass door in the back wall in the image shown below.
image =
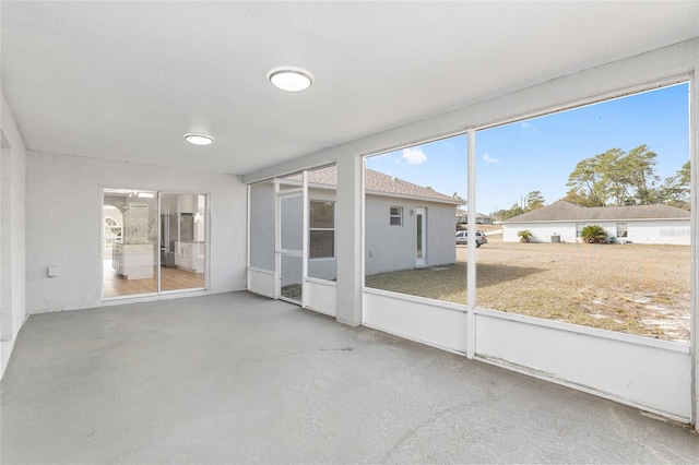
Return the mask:
[(103, 296), (204, 289), (206, 195), (105, 189)]

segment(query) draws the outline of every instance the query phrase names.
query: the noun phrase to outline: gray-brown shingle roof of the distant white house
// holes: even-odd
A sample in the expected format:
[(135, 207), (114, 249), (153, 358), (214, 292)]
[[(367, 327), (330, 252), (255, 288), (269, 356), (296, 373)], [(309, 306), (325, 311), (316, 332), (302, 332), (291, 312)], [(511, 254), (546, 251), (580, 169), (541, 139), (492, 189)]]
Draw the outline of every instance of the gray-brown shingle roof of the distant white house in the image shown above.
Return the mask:
[(670, 205), (629, 205), (582, 207), (559, 200), (548, 206), (514, 216), (505, 223), (591, 222), (617, 219), (689, 219), (691, 213)]

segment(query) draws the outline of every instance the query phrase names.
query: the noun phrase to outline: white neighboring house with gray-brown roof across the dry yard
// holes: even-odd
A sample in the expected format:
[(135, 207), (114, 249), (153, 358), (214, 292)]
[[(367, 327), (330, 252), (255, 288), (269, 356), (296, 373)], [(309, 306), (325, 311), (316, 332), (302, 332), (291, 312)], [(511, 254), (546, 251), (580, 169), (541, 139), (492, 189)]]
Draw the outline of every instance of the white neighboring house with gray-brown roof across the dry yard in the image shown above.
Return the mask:
[(670, 205), (581, 207), (566, 201), (514, 216), (502, 224), (502, 240), (519, 241), (528, 229), (537, 242), (580, 242), (580, 231), (599, 225), (608, 240), (689, 246), (690, 212)]

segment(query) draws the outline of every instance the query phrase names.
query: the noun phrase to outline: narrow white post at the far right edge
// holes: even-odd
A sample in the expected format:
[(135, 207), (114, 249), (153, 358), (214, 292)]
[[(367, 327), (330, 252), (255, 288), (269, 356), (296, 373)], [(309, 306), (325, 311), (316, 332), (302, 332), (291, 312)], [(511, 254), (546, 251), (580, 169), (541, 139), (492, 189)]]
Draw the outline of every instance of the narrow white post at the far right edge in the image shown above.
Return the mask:
[(689, 154), (691, 166), (691, 419), (695, 429), (699, 431), (699, 85), (696, 72), (691, 73), (689, 81)]

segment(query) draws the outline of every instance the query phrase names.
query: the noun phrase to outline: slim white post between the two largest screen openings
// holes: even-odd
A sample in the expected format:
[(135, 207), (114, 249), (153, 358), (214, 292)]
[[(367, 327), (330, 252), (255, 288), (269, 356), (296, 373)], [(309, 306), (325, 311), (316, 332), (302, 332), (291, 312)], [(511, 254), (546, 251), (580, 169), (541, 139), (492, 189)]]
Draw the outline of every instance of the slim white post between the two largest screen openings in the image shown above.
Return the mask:
[(476, 314), (474, 312), (476, 306), (476, 130), (469, 129), (466, 135), (469, 139), (466, 228), (471, 239), (467, 246), (466, 263), (466, 357), (473, 358), (476, 355)]

